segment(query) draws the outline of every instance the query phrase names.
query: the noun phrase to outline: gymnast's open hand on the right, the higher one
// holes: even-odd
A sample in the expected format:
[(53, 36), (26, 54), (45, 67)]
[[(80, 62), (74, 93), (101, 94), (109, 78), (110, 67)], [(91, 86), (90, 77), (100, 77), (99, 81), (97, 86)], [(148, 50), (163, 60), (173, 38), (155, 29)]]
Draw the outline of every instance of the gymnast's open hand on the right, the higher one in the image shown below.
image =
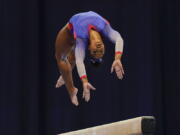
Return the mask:
[(114, 70), (116, 72), (117, 77), (122, 80), (123, 75), (124, 75), (124, 69), (123, 69), (121, 60), (119, 60), (119, 59), (114, 60), (112, 67), (111, 67), (111, 73), (113, 73)]

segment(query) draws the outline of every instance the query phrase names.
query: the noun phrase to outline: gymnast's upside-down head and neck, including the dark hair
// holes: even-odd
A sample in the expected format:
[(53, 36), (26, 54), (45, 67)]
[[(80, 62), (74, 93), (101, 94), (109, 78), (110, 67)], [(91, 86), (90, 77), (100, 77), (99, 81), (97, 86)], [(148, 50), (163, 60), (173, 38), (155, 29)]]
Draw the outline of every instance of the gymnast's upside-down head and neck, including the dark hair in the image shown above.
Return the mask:
[(93, 29), (91, 29), (89, 32), (89, 51), (91, 56), (91, 64), (93, 66), (101, 65), (105, 52), (104, 43), (99, 32)]

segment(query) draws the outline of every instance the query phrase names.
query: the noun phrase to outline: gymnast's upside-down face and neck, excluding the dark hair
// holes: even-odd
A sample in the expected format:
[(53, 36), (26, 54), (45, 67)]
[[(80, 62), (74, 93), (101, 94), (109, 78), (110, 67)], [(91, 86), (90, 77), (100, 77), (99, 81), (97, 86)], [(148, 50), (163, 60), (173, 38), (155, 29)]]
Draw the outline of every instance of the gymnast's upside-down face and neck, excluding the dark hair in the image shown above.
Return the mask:
[(95, 30), (90, 30), (90, 45), (89, 50), (93, 58), (102, 58), (105, 52), (104, 43), (98, 32)]

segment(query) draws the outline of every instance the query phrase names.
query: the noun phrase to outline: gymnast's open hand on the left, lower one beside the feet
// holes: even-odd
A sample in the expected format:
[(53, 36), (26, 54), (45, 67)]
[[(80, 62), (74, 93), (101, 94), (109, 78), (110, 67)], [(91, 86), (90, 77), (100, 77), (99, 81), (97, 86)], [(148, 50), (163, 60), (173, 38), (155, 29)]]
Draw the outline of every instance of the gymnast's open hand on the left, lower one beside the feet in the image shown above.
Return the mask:
[(95, 90), (96, 88), (92, 86), (89, 82), (83, 83), (83, 98), (86, 102), (90, 100), (90, 90)]

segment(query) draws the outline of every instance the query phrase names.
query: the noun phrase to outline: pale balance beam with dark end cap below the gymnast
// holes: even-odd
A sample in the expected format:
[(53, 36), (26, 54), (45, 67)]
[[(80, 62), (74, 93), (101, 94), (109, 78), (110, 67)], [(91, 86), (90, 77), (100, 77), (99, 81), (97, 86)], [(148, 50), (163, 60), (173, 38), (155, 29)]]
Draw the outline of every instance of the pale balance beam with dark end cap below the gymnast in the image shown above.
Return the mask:
[(155, 125), (153, 116), (142, 116), (59, 135), (152, 135)]

